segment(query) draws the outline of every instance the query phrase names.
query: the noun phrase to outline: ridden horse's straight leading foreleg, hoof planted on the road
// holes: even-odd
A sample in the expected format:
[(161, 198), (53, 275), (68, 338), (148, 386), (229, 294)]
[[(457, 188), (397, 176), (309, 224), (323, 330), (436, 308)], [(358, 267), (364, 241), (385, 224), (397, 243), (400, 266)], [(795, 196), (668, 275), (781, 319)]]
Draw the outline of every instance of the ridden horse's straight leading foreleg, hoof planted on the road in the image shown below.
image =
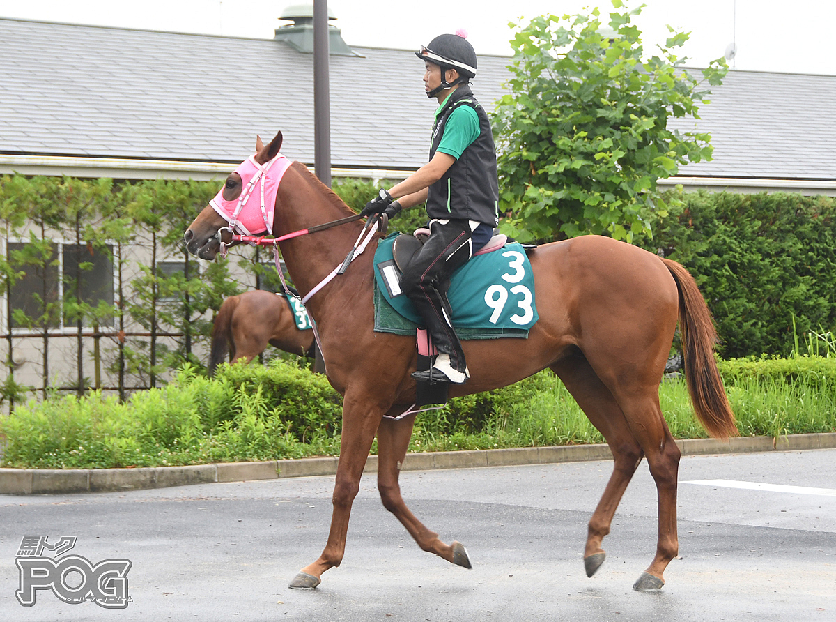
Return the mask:
[(368, 393), (360, 392), (351, 396), (348, 392), (345, 394), (343, 435), (339, 445), (339, 464), (334, 482), (334, 513), (331, 516), (328, 542), (319, 559), (302, 568), (289, 587), (313, 589), (319, 585), (322, 573), (342, 563), (351, 504), (359, 491), (360, 476), (363, 475), (363, 467), (384, 411), (385, 408), (376, 405)]

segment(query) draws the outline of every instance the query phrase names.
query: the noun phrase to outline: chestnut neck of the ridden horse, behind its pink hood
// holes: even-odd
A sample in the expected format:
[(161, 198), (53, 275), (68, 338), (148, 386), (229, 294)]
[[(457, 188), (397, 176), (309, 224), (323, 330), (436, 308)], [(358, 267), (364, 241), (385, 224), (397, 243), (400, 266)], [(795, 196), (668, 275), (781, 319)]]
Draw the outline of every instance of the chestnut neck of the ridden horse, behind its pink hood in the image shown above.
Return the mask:
[[(288, 173), (278, 188), (273, 218), (273, 231), (277, 236), (339, 220), (350, 214), (346, 208), (341, 209), (334, 204), (324, 192), (325, 188), (319, 187), (319, 182), (293, 167), (288, 169)], [(343, 263), (361, 230), (359, 223), (343, 224), (280, 244), (284, 263), (302, 296), (306, 296)], [(345, 275), (337, 276), (332, 281), (333, 286), (344, 286), (347, 280), (351, 280), (352, 272), (349, 270)], [(327, 294), (327, 291), (324, 293)], [(317, 303), (321, 298), (319, 294), (314, 296), (308, 303), (308, 311), (311, 311), (311, 306), (319, 306)]]

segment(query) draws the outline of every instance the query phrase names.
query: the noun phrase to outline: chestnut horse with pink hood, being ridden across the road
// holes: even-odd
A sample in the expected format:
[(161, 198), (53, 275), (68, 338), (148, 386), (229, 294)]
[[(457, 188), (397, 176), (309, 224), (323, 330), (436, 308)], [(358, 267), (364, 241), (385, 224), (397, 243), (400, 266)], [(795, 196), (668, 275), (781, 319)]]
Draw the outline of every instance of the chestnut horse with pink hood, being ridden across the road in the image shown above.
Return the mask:
[[(270, 162), (281, 132), (268, 146), (257, 140), (257, 162)], [(224, 189), (242, 192), (234, 172)], [(278, 187), (273, 217), (277, 237), (352, 214), (303, 164), (293, 162)], [(227, 222), (207, 206), (186, 230), (192, 254), (212, 260)], [(343, 263), (361, 225), (302, 235), (280, 243), (298, 290), (307, 294)], [(398, 475), (415, 414), (398, 420), (415, 403), (415, 339), (374, 330), (375, 243), (343, 275), (306, 303), (319, 331), (329, 382), (344, 396), (343, 435), (334, 482), (333, 515), (323, 553), (293, 578), (291, 588), (314, 588), (322, 574), (339, 566), (360, 475), (372, 441), (378, 439), (377, 482), (383, 505), (425, 551), (471, 568), (459, 542), (446, 544), (406, 507)], [(712, 436), (737, 434), (732, 409), (713, 356), (716, 332), (696, 282), (681, 265), (624, 242), (586, 235), (543, 244), (529, 254), (539, 314), (528, 339), (463, 343), (471, 378), (451, 385), (451, 397), (516, 383), (551, 369), (563, 381), (612, 450), (614, 470), (589, 520), (584, 566), (589, 576), (604, 562), (601, 543), (630, 478), (645, 457), (658, 491), (659, 537), (650, 566), (635, 589), (660, 589), (663, 573), (678, 552), (676, 477), (680, 450), (659, 404), (659, 384), (677, 321), (685, 353), (691, 402)]]

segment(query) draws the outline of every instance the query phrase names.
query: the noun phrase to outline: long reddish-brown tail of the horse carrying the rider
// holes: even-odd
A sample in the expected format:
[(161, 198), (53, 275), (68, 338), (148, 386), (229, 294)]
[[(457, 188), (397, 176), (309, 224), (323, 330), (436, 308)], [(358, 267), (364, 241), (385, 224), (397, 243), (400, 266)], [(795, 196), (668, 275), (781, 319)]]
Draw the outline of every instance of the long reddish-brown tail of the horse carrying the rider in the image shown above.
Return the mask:
[(685, 377), (691, 404), (697, 419), (715, 438), (726, 439), (740, 434), (732, 406), (726, 397), (720, 372), (714, 359), (717, 332), (711, 321), (711, 311), (691, 274), (672, 260), (665, 266), (679, 289), (680, 334), (685, 365)]

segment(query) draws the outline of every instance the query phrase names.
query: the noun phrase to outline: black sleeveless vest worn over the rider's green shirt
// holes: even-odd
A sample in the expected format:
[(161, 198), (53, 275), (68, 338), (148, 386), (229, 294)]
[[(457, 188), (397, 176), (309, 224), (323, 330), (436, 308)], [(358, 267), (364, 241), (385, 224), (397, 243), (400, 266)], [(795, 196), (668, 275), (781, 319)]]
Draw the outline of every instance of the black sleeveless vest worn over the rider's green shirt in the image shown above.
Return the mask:
[(491, 122), (482, 105), (474, 99), (468, 85), (461, 85), (454, 90), (436, 116), (436, 123), (432, 127), (430, 159), (436, 155), (447, 119), (460, 105), (469, 105), (477, 112), (479, 136), (461, 152), (461, 157), (447, 169), (444, 177), (431, 185), (426, 213), (430, 218), (477, 220), (496, 227), (499, 223), (497, 152), (493, 147)]

